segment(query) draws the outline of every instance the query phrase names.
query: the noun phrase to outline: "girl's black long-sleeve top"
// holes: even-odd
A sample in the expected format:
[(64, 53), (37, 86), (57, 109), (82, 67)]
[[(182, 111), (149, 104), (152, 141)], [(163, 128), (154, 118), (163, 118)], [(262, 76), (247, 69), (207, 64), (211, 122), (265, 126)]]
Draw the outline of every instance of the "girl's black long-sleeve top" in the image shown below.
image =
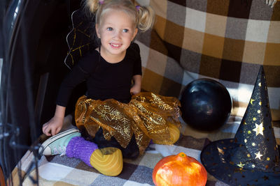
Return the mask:
[(57, 95), (57, 104), (66, 107), (71, 92), (83, 81), (87, 84), (87, 98), (94, 100), (115, 99), (127, 102), (131, 99), (132, 77), (141, 75), (140, 49), (133, 43), (123, 61), (109, 63), (97, 50), (87, 52), (64, 78)]

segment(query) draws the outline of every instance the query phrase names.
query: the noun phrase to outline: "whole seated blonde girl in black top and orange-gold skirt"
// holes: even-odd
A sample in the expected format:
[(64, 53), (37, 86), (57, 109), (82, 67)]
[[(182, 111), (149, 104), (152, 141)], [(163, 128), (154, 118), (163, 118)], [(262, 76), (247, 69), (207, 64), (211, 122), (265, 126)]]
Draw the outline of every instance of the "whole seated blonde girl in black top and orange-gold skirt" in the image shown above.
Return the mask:
[[(104, 175), (117, 176), (123, 157), (143, 154), (151, 139), (157, 144), (179, 139), (179, 100), (140, 92), (141, 57), (133, 40), (138, 31), (153, 25), (150, 7), (135, 7), (130, 0), (87, 0), (85, 7), (95, 15), (101, 45), (88, 52), (62, 82), (55, 116), (42, 128), (53, 137), (39, 153), (66, 154)], [(87, 93), (78, 99), (75, 110), (79, 130), (58, 133), (71, 91), (84, 80)]]

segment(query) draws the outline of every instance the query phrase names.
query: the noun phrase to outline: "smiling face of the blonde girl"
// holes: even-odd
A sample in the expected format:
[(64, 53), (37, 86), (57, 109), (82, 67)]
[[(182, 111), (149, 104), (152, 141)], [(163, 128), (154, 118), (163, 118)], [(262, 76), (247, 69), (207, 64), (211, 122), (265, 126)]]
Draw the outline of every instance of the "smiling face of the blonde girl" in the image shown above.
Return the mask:
[(121, 11), (109, 9), (96, 24), (97, 36), (101, 39), (101, 55), (106, 61), (122, 61), (126, 49), (137, 34), (137, 28), (130, 16)]

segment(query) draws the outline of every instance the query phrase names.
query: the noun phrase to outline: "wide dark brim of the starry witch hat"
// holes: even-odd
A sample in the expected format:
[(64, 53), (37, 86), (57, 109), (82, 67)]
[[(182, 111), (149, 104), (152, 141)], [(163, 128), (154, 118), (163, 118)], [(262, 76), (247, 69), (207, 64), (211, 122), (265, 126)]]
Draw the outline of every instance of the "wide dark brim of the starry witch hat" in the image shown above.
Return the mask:
[(208, 144), (200, 154), (200, 160), (208, 173), (229, 185), (278, 185), (280, 167), (275, 172), (259, 169), (244, 169), (230, 162), (231, 150), (237, 150), (239, 144), (234, 139), (222, 139)]

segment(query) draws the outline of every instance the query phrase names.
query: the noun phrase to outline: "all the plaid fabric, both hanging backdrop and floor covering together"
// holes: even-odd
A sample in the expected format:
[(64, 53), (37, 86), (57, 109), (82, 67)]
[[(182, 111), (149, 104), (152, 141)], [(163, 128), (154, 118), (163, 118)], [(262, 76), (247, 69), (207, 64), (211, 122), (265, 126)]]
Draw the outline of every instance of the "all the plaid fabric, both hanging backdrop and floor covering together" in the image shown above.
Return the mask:
[[(155, 9), (154, 29), (139, 33), (144, 91), (180, 98), (189, 82), (215, 79), (232, 96), (228, 123), (214, 132), (193, 130), (182, 121), (181, 137), (173, 146), (151, 145), (136, 160), (124, 160), (123, 172), (104, 176), (80, 160), (42, 157), (38, 171), (27, 151), (13, 170), (13, 183), (32, 185), (153, 185), (155, 164), (166, 155), (184, 152), (200, 160), (209, 141), (235, 136), (253, 91), (260, 65), (264, 66), (274, 133), (280, 144), (280, 3), (265, 0), (139, 0)], [(27, 173), (28, 172), (28, 173)], [(207, 185), (225, 185), (208, 175)]]

